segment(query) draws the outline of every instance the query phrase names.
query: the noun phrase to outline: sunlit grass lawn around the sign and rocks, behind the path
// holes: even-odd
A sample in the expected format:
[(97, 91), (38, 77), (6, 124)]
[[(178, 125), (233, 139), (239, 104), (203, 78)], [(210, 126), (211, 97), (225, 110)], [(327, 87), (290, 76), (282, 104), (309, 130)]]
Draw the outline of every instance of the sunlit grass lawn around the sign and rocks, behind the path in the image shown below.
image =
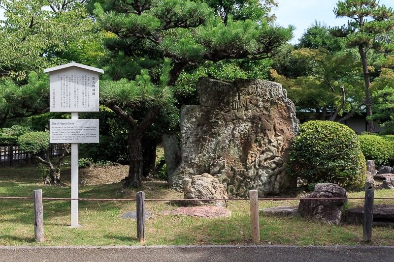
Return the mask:
[[(143, 188), (125, 194), (120, 179), (127, 166), (80, 170), (87, 183), (79, 187), (79, 198), (134, 199), (145, 191), (145, 199), (179, 199), (182, 193), (167, 189), (161, 181), (146, 181)], [(42, 189), (43, 197), (70, 197), (70, 166), (62, 169), (62, 185), (42, 184), (40, 169), (33, 165), (0, 168), (0, 196), (32, 197)], [(364, 192), (348, 192), (349, 197), (363, 197)], [(394, 190), (375, 190), (376, 197), (394, 197)], [(259, 201), (259, 209), (297, 205), (298, 201)], [(375, 200), (375, 204), (394, 204), (393, 200)], [(45, 241), (34, 240), (33, 200), (0, 199), (0, 246), (41, 245), (140, 245), (136, 240), (136, 221), (120, 216), (135, 210), (133, 201), (79, 201), (79, 223), (70, 229), (70, 201), (43, 200)], [(163, 215), (177, 206), (168, 201), (146, 202), (153, 217), (146, 221), (144, 245), (226, 245), (252, 244), (248, 201), (229, 201), (230, 218), (202, 219)], [(348, 206), (363, 206), (363, 200), (350, 200)], [(273, 245), (363, 245), (362, 225), (332, 226), (300, 217), (260, 215), (261, 244)], [(394, 245), (394, 229), (374, 227), (369, 245)]]

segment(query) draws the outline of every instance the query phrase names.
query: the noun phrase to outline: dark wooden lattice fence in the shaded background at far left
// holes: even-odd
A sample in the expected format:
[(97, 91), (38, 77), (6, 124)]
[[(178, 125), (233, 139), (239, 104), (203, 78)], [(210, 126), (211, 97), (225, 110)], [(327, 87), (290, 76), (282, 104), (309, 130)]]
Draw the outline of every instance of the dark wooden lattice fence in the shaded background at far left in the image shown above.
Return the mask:
[[(51, 144), (49, 148), (50, 156), (58, 156), (62, 153), (62, 145)], [(1, 166), (12, 166), (15, 162), (30, 163), (30, 156), (23, 152), (19, 146), (0, 146)]]

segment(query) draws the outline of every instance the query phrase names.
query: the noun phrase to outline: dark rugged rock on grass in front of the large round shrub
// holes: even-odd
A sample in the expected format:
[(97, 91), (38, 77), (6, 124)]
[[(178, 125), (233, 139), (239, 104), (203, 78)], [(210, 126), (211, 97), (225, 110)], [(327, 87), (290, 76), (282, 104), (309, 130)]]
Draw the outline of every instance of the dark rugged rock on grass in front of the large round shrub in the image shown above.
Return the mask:
[[(312, 198), (311, 200), (308, 200)], [(299, 201), (298, 211), (301, 216), (317, 219), (328, 224), (338, 225), (342, 219), (342, 207), (346, 199), (313, 198), (347, 198), (346, 190), (336, 184), (319, 183), (315, 191)]]

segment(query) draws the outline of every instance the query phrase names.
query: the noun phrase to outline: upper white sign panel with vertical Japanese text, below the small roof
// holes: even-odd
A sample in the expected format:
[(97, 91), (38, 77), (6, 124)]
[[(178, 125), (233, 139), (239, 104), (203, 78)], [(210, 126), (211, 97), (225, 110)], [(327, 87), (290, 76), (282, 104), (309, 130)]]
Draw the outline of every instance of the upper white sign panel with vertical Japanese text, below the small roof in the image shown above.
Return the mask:
[(99, 112), (99, 73), (78, 67), (49, 75), (51, 112)]

